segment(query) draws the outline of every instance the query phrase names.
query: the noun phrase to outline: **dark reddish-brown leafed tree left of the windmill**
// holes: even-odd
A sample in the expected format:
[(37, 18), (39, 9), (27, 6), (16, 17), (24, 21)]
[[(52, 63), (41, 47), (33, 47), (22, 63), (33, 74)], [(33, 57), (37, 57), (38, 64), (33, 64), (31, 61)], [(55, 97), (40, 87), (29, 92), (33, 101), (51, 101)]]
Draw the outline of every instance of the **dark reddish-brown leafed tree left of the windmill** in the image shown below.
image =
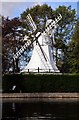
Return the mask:
[[(2, 18), (2, 70), (3, 73), (14, 71), (13, 55), (20, 47), (20, 39), (22, 38), (22, 30), (18, 30), (21, 26), (19, 18), (9, 19)], [(21, 43), (22, 44), (22, 43)], [(18, 59), (16, 60), (17, 71)]]

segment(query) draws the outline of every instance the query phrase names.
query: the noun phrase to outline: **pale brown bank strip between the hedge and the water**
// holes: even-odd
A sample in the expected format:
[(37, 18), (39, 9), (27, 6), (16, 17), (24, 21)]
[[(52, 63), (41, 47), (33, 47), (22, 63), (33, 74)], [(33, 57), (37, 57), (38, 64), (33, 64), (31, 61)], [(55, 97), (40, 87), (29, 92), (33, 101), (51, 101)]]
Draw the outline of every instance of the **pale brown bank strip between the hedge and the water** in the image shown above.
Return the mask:
[(0, 93), (0, 98), (76, 98), (79, 93)]

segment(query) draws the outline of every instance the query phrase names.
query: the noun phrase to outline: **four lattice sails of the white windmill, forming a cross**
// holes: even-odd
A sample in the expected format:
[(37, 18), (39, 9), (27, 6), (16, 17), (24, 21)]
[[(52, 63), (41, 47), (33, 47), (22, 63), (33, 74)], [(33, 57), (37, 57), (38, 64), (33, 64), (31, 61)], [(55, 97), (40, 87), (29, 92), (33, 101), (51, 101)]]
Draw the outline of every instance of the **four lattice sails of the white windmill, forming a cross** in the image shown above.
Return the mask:
[[(35, 31), (35, 30), (37, 29), (37, 27), (36, 27), (36, 25), (35, 25), (32, 17), (30, 16), (30, 14), (28, 14), (26, 18), (27, 18), (27, 20), (29, 21), (29, 24), (31, 24), (33, 30)], [(55, 21), (52, 20), (52, 21), (47, 25), (47, 27), (45, 27), (45, 30), (43, 30), (42, 33), (43, 33), (43, 34), (44, 34), (44, 33), (48, 33), (48, 32), (50, 31), (50, 29), (53, 29), (53, 27), (56, 26), (56, 23), (59, 22), (61, 18), (62, 18), (62, 16), (61, 16), (61, 14), (59, 14), (59, 16), (58, 16), (57, 18), (55, 18)], [(37, 39), (41, 36), (42, 33), (36, 34), (36, 35), (35, 35), (35, 38), (34, 38), (32, 41), (30, 41), (30, 40), (27, 39), (27, 43), (25, 43), (25, 44), (21, 47), (21, 49), (13, 56), (13, 58), (14, 58), (14, 59), (17, 59), (17, 58), (26, 50), (26, 48), (28, 48), (34, 41), (37, 41)], [(38, 43), (38, 44), (39, 44), (39, 43)], [(39, 47), (40, 47), (40, 45), (39, 45)], [(40, 49), (41, 49), (41, 47), (40, 47)], [(42, 49), (41, 49), (41, 51), (42, 51)], [(42, 52), (43, 52), (43, 51), (42, 51)], [(44, 54), (44, 53), (43, 53), (43, 54)]]

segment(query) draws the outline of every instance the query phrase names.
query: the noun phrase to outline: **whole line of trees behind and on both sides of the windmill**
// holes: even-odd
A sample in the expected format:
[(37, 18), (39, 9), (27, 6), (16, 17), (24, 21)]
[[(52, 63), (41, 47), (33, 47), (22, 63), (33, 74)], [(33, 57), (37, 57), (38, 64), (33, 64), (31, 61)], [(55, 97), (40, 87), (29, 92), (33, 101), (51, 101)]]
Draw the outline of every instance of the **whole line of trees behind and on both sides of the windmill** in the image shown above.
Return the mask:
[[(56, 48), (56, 64), (62, 73), (78, 73), (79, 72), (79, 21), (76, 20), (76, 11), (71, 6), (59, 6), (53, 10), (47, 4), (37, 5), (26, 9), (20, 17), (9, 19), (2, 17), (2, 72), (19, 72), (21, 64), (27, 64), (30, 60), (29, 52), (33, 46), (16, 59), (16, 66), (13, 61), (13, 55), (21, 48), (26, 41), (24, 36), (29, 35), (32, 30), (29, 29), (26, 16), (30, 13), (37, 31), (41, 31), (45, 27), (47, 19), (54, 19), (59, 13), (62, 20), (58, 23), (55, 31)], [(30, 32), (29, 32), (30, 31)], [(61, 50), (61, 56), (58, 55)]]

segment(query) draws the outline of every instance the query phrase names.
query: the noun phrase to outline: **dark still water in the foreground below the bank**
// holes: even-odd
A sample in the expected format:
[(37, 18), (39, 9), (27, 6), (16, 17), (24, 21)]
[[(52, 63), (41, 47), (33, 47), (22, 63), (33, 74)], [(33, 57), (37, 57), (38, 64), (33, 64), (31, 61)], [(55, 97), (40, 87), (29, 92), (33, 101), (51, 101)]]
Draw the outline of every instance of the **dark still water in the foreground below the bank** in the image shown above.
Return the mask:
[(2, 120), (79, 120), (77, 101), (3, 100)]

